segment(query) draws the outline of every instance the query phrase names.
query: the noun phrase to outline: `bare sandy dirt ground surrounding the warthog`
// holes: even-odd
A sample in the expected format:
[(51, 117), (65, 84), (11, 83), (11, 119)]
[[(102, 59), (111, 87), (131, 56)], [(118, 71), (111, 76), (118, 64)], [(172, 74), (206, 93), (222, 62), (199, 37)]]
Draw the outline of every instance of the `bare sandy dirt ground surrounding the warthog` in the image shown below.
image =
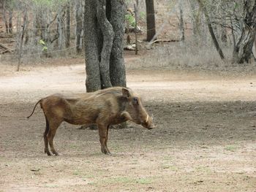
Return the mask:
[[(132, 65), (127, 57), (127, 65)], [(256, 76), (128, 67), (157, 128), (111, 129), (112, 155), (97, 130), (63, 123), (59, 156), (43, 153), (45, 119), (36, 101), (83, 93), (83, 59), (0, 65), (0, 191), (256, 191)]]

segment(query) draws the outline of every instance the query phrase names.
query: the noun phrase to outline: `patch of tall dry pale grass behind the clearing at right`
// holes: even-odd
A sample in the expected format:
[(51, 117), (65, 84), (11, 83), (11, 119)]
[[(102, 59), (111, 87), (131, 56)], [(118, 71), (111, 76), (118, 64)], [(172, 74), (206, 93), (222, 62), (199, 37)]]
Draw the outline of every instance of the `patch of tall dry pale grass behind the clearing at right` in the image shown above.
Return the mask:
[(222, 74), (253, 74), (256, 70), (252, 64), (232, 64), (233, 47), (224, 47), (225, 60), (222, 61), (213, 45), (198, 45), (195, 42), (170, 42), (155, 44), (146, 57), (141, 57), (135, 64), (128, 66), (138, 68), (162, 68), (189, 70), (199, 72), (217, 72)]

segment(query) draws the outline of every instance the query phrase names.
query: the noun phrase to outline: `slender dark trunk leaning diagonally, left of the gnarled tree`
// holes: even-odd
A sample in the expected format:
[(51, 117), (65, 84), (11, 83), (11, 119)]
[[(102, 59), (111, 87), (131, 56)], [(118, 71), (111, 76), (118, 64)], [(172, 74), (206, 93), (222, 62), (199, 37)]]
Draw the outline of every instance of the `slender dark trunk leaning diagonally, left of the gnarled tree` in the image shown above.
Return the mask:
[(215, 37), (215, 34), (214, 34), (214, 29), (212, 28), (211, 26), (211, 20), (209, 18), (209, 15), (208, 15), (208, 12), (206, 10), (206, 7), (203, 6), (203, 3), (201, 0), (197, 0), (199, 6), (203, 9), (203, 12), (204, 12), (204, 15), (206, 16), (206, 22), (207, 22), (207, 26), (208, 26), (208, 30), (211, 34), (211, 38), (214, 42), (214, 46), (216, 47), (217, 49), (217, 52), (219, 53), (219, 56), (220, 58), (224, 59), (224, 55), (223, 55), (223, 52), (222, 52), (222, 48), (219, 47), (219, 42), (217, 41), (217, 38)]

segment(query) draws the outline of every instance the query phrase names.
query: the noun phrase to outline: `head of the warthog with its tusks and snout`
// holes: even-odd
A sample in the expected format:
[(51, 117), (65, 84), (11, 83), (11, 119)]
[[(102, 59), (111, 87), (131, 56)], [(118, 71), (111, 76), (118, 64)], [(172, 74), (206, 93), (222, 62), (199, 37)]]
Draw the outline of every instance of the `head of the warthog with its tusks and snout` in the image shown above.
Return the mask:
[(143, 107), (140, 96), (133, 93), (129, 88), (123, 88), (122, 92), (128, 101), (127, 108), (122, 112), (122, 115), (145, 128), (155, 128), (152, 118)]

